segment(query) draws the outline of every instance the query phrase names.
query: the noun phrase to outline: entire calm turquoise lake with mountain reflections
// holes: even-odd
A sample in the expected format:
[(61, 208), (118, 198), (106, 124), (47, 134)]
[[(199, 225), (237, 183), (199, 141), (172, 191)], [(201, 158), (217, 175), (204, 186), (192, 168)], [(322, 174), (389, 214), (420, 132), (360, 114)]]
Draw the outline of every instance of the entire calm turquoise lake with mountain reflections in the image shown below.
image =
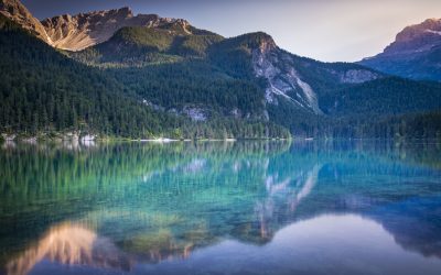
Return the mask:
[(441, 274), (440, 144), (2, 146), (1, 274)]

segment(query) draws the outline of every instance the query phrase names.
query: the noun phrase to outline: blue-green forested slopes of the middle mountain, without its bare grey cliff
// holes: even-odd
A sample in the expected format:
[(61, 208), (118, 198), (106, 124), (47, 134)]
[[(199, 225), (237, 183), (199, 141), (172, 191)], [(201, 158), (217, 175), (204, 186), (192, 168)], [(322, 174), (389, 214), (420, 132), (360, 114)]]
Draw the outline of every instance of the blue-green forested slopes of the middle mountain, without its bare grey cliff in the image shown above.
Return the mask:
[(189, 37), (202, 36), (126, 28), (109, 42), (85, 53), (99, 52), (104, 57), (95, 65), (104, 67), (109, 65), (104, 62), (106, 58), (114, 58), (110, 62), (126, 67), (114, 66), (108, 70), (119, 82), (165, 109), (182, 109), (189, 105), (208, 107), (220, 117), (238, 109), (241, 114), (257, 120), (265, 119), (267, 113), (270, 121), (297, 136), (375, 136), (374, 132), (363, 130), (369, 128), (373, 116), (392, 123), (400, 118), (394, 116), (440, 108), (441, 90), (437, 84), (389, 78), (358, 64), (322, 63), (280, 48), (272, 52), (280, 74), (295, 68), (301, 79), (316, 92), (324, 113), (315, 114), (282, 97), (278, 97), (278, 105), (265, 103), (268, 82), (256, 78), (252, 58), (254, 51), (262, 45), (277, 47), (271, 44), (271, 36), (262, 32), (233, 38), (218, 36), (207, 44), (197, 44), (202, 54), (186, 55), (176, 51), (175, 45), (181, 45), (176, 41)]

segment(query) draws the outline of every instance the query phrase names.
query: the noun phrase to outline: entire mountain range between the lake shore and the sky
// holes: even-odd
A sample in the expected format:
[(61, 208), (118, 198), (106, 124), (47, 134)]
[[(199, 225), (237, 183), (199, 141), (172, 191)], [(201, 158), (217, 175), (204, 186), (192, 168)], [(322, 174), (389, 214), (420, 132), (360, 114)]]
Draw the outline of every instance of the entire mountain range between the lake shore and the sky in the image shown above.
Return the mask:
[[(426, 31), (406, 29), (386, 54), (358, 65), (293, 55), (266, 33), (225, 38), (182, 19), (133, 15), (129, 8), (39, 22), (19, 1), (1, 0), (0, 12), (7, 18), (1, 28), (3, 132), (180, 139), (276, 138), (286, 136), (283, 129), (304, 136), (441, 134), (433, 124), (441, 85), (380, 73), (402, 75), (386, 66), (389, 56), (433, 54), (441, 37), (435, 23)], [(24, 37), (8, 20), (56, 50)], [(417, 55), (415, 45), (421, 50)], [(406, 69), (421, 77), (437, 79), (433, 66), (412, 62)], [(432, 77), (423, 77), (424, 69)]]

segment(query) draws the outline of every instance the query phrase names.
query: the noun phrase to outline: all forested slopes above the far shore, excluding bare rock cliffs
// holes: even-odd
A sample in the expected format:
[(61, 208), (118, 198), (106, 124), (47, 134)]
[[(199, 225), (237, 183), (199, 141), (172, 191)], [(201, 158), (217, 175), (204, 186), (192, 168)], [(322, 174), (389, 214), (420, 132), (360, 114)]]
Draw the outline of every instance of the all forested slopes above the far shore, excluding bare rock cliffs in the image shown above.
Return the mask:
[[(122, 28), (105, 43), (57, 53), (2, 20), (2, 131), (262, 138), (287, 136), (288, 129), (295, 136), (390, 138), (402, 121), (432, 121), (427, 112), (438, 116), (441, 108), (439, 84), (295, 56), (261, 32), (224, 38), (181, 23)], [(262, 47), (273, 50), (280, 79), (294, 69), (314, 90), (323, 113), (282, 96), (278, 103), (266, 101), (268, 79), (256, 77), (252, 64)], [(373, 118), (390, 127), (369, 131)], [(437, 136), (437, 123), (424, 125)]]

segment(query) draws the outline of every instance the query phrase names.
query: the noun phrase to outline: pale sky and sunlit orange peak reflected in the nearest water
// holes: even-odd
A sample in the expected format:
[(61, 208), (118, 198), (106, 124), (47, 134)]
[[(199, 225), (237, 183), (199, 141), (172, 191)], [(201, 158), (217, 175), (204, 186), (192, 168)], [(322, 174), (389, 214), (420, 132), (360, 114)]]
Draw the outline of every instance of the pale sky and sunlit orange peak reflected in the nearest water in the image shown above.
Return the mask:
[[(46, 261), (42, 261), (45, 258)], [(33, 266), (33, 264), (36, 264)], [(60, 264), (65, 265), (64, 267)], [(69, 267), (67, 267), (71, 265)], [(72, 266), (73, 265), (73, 266)], [(21, 268), (19, 268), (19, 266)], [(76, 266), (76, 267), (75, 267)], [(83, 267), (82, 267), (83, 266)], [(9, 274), (87, 274), (97, 267), (108, 273), (133, 274), (439, 274), (441, 261), (404, 250), (384, 227), (356, 215), (325, 215), (299, 221), (279, 230), (265, 245), (224, 240), (182, 257), (148, 264), (127, 255), (110, 240), (76, 224), (52, 229), (10, 263)]]

